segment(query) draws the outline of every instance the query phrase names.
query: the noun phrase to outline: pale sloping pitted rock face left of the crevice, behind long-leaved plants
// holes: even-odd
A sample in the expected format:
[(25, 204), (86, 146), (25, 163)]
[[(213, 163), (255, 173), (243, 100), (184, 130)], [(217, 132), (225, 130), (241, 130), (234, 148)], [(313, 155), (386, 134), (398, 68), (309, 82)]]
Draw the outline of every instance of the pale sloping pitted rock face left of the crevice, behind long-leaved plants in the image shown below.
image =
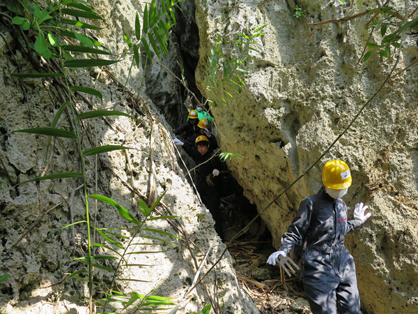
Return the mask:
[[(144, 3), (93, 1), (92, 5), (104, 17), (102, 23), (105, 26), (95, 36), (111, 52), (123, 54), (126, 50), (123, 31), (134, 37), (135, 12), (142, 12)], [(82, 179), (54, 179), (15, 186), (43, 174), (81, 171), (74, 140), (64, 137), (53, 140), (47, 154), (46, 136), (13, 133), (13, 130), (22, 128), (50, 126), (54, 114), (65, 102), (65, 93), (59, 91), (50, 79), (10, 77), (13, 72), (30, 73), (39, 69), (33, 68), (29, 58), (22, 53), (22, 47), (14, 40), (15, 34), (10, 33), (12, 26), (0, 24), (0, 27), (0, 274), (10, 275), (0, 283), (0, 313), (88, 313), (86, 302), (79, 297), (88, 295), (87, 284), (75, 277), (63, 281), (65, 274), (85, 269), (73, 258), (87, 254), (86, 224), (60, 230), (65, 225), (86, 219)], [(169, 243), (130, 246), (130, 251), (148, 253), (125, 255), (125, 260), (132, 266), (123, 267), (119, 278), (132, 281), (118, 281), (114, 290), (172, 297), (171, 301), (178, 303), (192, 286), (206, 253), (208, 260), (203, 263), (202, 274), (219, 258), (225, 246), (217, 237), (208, 210), (199, 202), (177, 164), (169, 133), (171, 128), (153, 103), (145, 100), (141, 68), (133, 68), (127, 84), (132, 94), (123, 89), (130, 58), (125, 57), (124, 61), (110, 67), (112, 75), (101, 70), (77, 70), (70, 75), (71, 84), (95, 87), (103, 95), (102, 103), (94, 97), (77, 98), (77, 113), (118, 110), (137, 119), (107, 117), (83, 121), (82, 149), (104, 144), (130, 147), (126, 151), (99, 154), (97, 158), (95, 155), (86, 156), (87, 193), (110, 197), (141, 219), (139, 198), (155, 200), (155, 196), (166, 191), (161, 201), (164, 206), (157, 207), (155, 215), (170, 214), (178, 218), (153, 220), (146, 227), (170, 232), (180, 239), (171, 239), (176, 246)], [(57, 127), (73, 130), (74, 122), (70, 122), (70, 116), (70, 111), (66, 110)], [(45, 156), (48, 157), (46, 165)], [(155, 175), (155, 195), (150, 195), (152, 172)], [(115, 207), (104, 202), (95, 204), (92, 199), (88, 204), (92, 225), (132, 227)], [(132, 233), (118, 229), (112, 232), (125, 237), (114, 239), (126, 247)], [(144, 235), (155, 237), (149, 232)], [(165, 236), (160, 234), (160, 237)], [(46, 241), (38, 247), (45, 238)], [(92, 241), (112, 246), (97, 234), (93, 238), (93, 231)], [(138, 237), (134, 243), (152, 244), (153, 239)], [(118, 254), (123, 252), (116, 246), (114, 249)], [(116, 251), (96, 247), (94, 254), (118, 257)], [(116, 266), (111, 260), (99, 261), (99, 264), (101, 262), (107, 267)], [(111, 273), (96, 267), (95, 281), (109, 286)], [(99, 292), (106, 288), (94, 285), (94, 290)], [(93, 297), (98, 297), (98, 293)], [(190, 292), (179, 311), (200, 313), (208, 303), (212, 303), (217, 313), (258, 313), (238, 284), (228, 252)]]

